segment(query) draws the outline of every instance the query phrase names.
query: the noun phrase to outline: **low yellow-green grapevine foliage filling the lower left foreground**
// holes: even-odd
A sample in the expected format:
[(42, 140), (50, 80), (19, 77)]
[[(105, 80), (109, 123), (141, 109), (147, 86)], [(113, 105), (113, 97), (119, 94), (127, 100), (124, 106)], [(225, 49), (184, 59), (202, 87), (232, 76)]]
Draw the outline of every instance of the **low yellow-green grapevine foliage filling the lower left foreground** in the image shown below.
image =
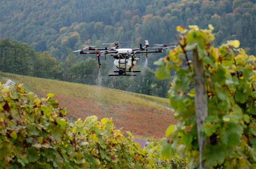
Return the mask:
[[(116, 130), (112, 119), (89, 116), (69, 123), (54, 94), (39, 100), (21, 84), (1, 88), (0, 168), (170, 168), (159, 144), (146, 148)], [(181, 165), (182, 168), (183, 165)]]

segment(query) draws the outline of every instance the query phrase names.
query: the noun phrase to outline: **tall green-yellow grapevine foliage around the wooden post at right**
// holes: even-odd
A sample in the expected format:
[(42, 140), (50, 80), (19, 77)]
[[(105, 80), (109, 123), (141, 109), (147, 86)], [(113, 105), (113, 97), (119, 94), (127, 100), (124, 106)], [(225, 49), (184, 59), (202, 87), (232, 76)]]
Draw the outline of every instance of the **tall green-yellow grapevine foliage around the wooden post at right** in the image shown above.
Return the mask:
[[(248, 56), (243, 48), (235, 49), (240, 45), (238, 40), (214, 48), (212, 25), (209, 30), (200, 30), (197, 26), (189, 28), (177, 27), (179, 45), (157, 62), (162, 65), (158, 69), (177, 71), (169, 97), (175, 118), (180, 118), (177, 125), (167, 130), (166, 135), (173, 130), (172, 141), (164, 139), (161, 142), (162, 153), (171, 158), (175, 155), (174, 148), (178, 147), (178, 153), (189, 159), (190, 166), (199, 160), (195, 101), (183, 95), (189, 83), (194, 82), (194, 65), (187, 53), (196, 49), (204, 63), (209, 113), (201, 134), (211, 139), (203, 148), (204, 165), (209, 168), (255, 168), (256, 58)], [(182, 66), (183, 59), (187, 66)], [(158, 75), (160, 78), (168, 76)], [(194, 92), (193, 89), (190, 97), (194, 97)]]

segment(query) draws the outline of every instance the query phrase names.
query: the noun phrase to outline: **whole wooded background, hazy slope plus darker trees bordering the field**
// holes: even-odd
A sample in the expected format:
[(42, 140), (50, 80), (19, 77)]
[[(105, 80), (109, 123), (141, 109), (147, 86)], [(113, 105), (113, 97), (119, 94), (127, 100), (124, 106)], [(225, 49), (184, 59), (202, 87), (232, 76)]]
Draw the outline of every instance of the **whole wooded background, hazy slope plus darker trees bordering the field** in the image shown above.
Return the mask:
[[(166, 97), (170, 81), (155, 78), (153, 62), (166, 56), (168, 50), (150, 54), (147, 68), (145, 66), (135, 81), (131, 78), (106, 78), (113, 68), (112, 57), (103, 62), (99, 76), (96, 60), (89, 59), (95, 57), (93, 54), (82, 56), (71, 50), (80, 49), (84, 44), (103, 47), (102, 43), (126, 40), (130, 40), (130, 44), (124, 43), (121, 47), (139, 46), (145, 39), (151, 46), (176, 42), (175, 27), (178, 25), (206, 28), (212, 24), (215, 46), (225, 40), (238, 39), (246, 53), (254, 54), (254, 3), (248, 0), (2, 1), (1, 71), (84, 84), (99, 84), (101, 81), (109, 88)], [(7, 38), (18, 42), (9, 42)], [(144, 64), (141, 57), (138, 65), (142, 68)], [(131, 88), (127, 88), (129, 86)]]

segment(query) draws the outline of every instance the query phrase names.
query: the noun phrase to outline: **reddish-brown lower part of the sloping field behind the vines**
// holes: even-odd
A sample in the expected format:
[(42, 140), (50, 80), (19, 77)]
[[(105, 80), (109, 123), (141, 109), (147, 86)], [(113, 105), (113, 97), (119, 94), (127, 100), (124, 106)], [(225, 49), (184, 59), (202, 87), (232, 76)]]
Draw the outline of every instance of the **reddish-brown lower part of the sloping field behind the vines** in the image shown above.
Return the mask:
[[(44, 92), (37, 94), (46, 97)], [(167, 109), (61, 95), (55, 95), (53, 99), (59, 101), (59, 107), (67, 107), (67, 118), (70, 120), (85, 120), (91, 115), (98, 116), (99, 120), (112, 118), (117, 129), (123, 127), (123, 132), (130, 131), (133, 135), (164, 137), (167, 127), (177, 123), (173, 112)]]

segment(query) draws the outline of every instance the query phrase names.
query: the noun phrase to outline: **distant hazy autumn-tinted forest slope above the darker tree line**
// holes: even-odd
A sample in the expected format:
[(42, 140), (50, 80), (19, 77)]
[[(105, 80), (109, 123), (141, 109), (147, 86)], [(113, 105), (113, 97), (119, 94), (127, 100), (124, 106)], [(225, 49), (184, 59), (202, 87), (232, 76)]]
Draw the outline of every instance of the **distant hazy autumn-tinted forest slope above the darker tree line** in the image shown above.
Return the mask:
[[(175, 41), (177, 25), (211, 23), (215, 45), (238, 39), (241, 47), (254, 48), (254, 1), (80, 0), (2, 1), (0, 37), (29, 43), (36, 51), (49, 51), (64, 59), (69, 49), (115, 40), (144, 39), (154, 43)], [(89, 40), (90, 39), (90, 40)], [(252, 51), (251, 51), (252, 52)]]

